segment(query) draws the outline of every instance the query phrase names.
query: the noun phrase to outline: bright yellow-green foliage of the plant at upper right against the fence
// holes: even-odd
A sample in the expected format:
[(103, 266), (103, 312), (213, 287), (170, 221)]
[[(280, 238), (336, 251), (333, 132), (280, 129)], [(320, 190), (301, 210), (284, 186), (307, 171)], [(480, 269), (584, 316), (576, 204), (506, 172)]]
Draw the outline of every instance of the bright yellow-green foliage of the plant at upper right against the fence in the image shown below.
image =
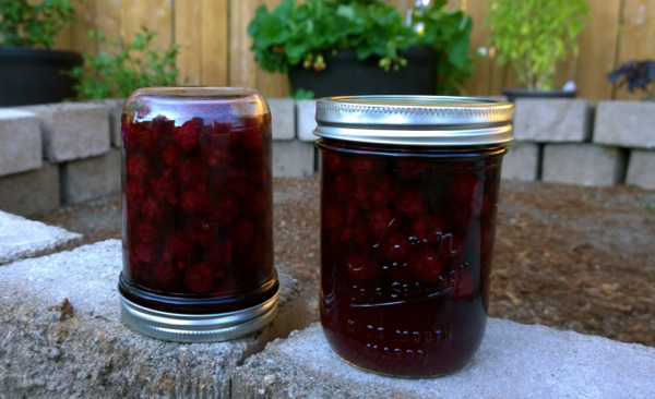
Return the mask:
[(557, 61), (569, 51), (577, 57), (575, 40), (588, 19), (585, 0), (493, 0), (488, 3), (490, 43), (499, 62), (512, 62), (528, 88), (551, 89)]

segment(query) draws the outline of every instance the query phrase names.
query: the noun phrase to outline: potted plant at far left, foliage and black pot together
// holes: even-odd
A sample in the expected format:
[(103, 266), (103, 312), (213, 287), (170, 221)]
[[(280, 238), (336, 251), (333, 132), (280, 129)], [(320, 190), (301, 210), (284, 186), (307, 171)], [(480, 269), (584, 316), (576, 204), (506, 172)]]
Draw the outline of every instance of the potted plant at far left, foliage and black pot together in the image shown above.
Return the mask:
[(74, 21), (70, 1), (0, 0), (0, 106), (58, 102), (74, 97), (66, 71), (82, 64), (76, 52), (51, 50)]

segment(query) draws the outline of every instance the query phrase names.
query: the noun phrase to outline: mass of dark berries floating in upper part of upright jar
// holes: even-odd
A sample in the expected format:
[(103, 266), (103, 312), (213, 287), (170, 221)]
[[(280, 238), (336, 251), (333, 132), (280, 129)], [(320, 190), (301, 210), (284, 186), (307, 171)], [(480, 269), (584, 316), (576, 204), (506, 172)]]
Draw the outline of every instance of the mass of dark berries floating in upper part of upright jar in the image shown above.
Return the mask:
[(480, 262), (489, 234), (495, 198), (485, 195), (485, 169), (400, 158), (323, 153), (323, 263), (343, 265), (352, 283), (378, 287), (446, 280), (456, 270), (451, 295), (469, 297), (474, 278), (458, 266)]

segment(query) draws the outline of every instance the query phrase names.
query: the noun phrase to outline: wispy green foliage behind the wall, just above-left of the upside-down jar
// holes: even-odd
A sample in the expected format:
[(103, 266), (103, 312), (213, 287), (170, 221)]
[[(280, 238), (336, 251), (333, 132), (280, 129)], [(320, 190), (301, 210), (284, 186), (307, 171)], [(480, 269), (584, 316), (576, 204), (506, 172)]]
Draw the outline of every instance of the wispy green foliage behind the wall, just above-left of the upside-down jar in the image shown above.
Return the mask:
[[(115, 43), (118, 49), (115, 56), (105, 50), (97, 56), (82, 56), (84, 66), (71, 72), (71, 76), (80, 80), (75, 89), (81, 99), (124, 98), (140, 87), (175, 85), (178, 46), (168, 51), (153, 50), (151, 43), (156, 33), (145, 26), (141, 29), (142, 34), (136, 34), (134, 40), (124, 43), (122, 48)], [(94, 39), (96, 33), (92, 31), (88, 36)], [(109, 43), (102, 34), (97, 37)]]

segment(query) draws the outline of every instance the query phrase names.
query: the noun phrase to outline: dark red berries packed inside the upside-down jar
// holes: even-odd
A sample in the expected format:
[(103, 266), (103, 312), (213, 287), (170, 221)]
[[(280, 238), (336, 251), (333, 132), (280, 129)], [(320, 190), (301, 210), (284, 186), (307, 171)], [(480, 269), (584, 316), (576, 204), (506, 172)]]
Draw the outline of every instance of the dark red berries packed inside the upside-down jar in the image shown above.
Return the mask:
[(128, 282), (174, 294), (251, 290), (272, 273), (271, 116), (123, 116)]

